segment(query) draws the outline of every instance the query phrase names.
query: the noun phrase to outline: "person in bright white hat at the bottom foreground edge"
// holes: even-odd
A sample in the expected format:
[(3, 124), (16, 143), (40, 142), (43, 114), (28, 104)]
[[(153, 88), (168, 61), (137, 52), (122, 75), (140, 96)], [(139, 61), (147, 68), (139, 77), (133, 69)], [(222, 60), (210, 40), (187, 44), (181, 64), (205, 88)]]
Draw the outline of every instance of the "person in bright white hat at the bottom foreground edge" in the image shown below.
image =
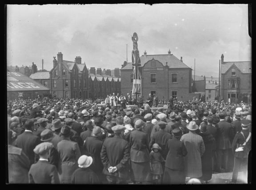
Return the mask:
[(91, 156), (81, 155), (77, 161), (78, 167), (72, 174), (72, 184), (99, 184), (100, 180), (97, 174), (89, 169), (93, 163)]

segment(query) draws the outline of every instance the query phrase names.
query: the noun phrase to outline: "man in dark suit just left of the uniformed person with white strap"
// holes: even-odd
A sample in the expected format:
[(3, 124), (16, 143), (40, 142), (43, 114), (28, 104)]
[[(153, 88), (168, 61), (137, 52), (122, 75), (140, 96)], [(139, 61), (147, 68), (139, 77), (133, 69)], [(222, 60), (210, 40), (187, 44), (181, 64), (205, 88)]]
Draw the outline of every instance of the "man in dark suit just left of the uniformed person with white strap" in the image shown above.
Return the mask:
[[(226, 122), (225, 114), (219, 113), (220, 122), (217, 128), (217, 171), (220, 172), (221, 166), (224, 166), (225, 171), (228, 170), (228, 152), (231, 148), (230, 139), (232, 139), (233, 131), (232, 125)], [(224, 157), (224, 163), (222, 163), (222, 156)]]

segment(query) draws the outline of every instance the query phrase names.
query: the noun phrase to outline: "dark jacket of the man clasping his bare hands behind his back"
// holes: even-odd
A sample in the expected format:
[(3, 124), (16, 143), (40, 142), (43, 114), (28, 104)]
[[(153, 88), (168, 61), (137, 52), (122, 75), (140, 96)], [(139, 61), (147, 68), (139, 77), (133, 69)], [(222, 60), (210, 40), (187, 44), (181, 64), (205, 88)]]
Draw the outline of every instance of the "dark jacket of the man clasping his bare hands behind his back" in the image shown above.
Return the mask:
[[(121, 136), (115, 135), (105, 139), (100, 152), (100, 158), (104, 166), (103, 174), (125, 179), (128, 177), (130, 148), (129, 143)], [(117, 168), (115, 173), (108, 172), (108, 168), (111, 166)]]

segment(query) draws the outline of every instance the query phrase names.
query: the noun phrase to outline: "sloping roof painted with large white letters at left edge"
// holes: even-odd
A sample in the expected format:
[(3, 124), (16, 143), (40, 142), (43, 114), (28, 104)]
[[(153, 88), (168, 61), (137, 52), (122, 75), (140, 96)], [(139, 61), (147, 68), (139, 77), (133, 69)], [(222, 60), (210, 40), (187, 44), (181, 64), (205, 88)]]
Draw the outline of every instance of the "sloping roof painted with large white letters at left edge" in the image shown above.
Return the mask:
[(18, 72), (7, 72), (7, 91), (49, 90), (32, 78)]

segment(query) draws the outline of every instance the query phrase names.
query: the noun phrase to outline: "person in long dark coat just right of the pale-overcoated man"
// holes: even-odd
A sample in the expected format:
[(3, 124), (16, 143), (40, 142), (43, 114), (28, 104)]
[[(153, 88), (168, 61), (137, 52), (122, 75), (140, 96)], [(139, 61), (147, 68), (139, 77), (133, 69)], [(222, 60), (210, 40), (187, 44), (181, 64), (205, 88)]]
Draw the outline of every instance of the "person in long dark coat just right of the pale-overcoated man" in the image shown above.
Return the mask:
[(207, 124), (205, 122), (200, 124), (199, 135), (203, 138), (205, 146), (205, 151), (201, 158), (203, 175), (200, 179), (207, 183), (208, 180), (212, 179), (212, 151), (216, 148), (216, 143), (212, 134), (207, 131)]

